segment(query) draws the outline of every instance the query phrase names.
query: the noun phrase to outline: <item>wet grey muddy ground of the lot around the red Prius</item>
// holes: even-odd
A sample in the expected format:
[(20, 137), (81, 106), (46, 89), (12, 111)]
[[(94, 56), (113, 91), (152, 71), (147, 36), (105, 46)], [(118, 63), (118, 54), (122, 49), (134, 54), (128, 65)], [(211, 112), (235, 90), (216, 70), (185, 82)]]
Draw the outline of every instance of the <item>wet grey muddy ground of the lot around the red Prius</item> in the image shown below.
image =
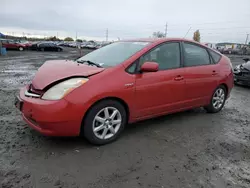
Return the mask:
[(18, 88), (45, 60), (77, 56), (67, 49), (0, 57), (1, 188), (250, 187), (248, 87), (235, 86), (220, 113), (195, 109), (132, 124), (102, 147), (28, 128), (13, 105)]

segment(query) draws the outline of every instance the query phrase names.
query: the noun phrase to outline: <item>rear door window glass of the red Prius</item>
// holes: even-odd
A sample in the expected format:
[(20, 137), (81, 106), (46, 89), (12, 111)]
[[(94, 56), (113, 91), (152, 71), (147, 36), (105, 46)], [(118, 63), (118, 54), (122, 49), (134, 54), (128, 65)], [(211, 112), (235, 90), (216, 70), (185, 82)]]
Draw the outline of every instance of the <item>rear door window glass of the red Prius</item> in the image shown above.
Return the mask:
[(195, 44), (183, 43), (184, 65), (186, 67), (209, 65), (210, 57), (205, 48)]

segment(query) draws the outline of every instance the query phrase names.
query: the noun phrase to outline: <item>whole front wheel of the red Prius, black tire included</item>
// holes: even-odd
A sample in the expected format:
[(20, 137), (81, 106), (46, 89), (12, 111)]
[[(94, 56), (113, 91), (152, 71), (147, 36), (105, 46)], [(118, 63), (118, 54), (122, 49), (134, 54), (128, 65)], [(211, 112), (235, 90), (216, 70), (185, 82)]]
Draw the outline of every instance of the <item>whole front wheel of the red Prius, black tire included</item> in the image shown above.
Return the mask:
[[(108, 109), (109, 116), (105, 117), (105, 115), (107, 115), (105, 114), (105, 109)], [(114, 112), (112, 110), (117, 110), (113, 120), (111, 120), (111, 114)], [(115, 121), (120, 121), (120, 123), (116, 124)], [(112, 122), (114, 122), (113, 125)], [(95, 104), (88, 111), (86, 117), (84, 118), (81, 132), (90, 143), (95, 145), (104, 145), (115, 141), (120, 136), (126, 123), (127, 113), (124, 106), (116, 100), (104, 100)], [(96, 130), (99, 128), (100, 130), (94, 131), (94, 128)]]

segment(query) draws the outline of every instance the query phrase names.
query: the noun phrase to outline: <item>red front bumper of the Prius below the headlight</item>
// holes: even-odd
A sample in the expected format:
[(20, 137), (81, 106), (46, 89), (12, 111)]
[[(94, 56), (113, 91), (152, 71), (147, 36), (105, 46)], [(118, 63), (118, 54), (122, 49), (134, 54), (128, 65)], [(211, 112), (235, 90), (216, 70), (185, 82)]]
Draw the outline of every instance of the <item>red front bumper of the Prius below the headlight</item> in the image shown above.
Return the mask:
[(23, 101), (21, 113), (24, 121), (33, 129), (46, 136), (78, 136), (80, 134), (82, 116), (79, 108), (61, 99), (47, 101), (25, 96), (26, 88), (21, 89), (20, 99)]

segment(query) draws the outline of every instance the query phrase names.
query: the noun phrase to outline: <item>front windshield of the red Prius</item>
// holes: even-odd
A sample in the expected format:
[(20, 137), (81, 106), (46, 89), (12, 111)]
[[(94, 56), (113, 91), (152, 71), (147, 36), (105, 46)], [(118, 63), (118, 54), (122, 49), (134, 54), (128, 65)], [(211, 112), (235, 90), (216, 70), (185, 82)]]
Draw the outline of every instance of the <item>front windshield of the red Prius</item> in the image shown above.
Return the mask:
[(148, 44), (149, 42), (115, 42), (88, 53), (77, 61), (91, 61), (102, 67), (113, 67), (122, 63)]

